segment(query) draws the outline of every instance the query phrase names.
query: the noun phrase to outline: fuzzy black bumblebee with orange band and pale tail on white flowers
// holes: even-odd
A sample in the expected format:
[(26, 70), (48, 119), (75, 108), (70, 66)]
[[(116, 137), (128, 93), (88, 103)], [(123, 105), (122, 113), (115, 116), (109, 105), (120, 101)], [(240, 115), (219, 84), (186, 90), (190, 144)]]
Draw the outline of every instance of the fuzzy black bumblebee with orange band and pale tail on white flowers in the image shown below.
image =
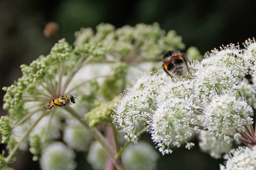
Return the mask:
[(178, 78), (188, 72), (190, 73), (188, 67), (189, 59), (184, 53), (168, 51), (163, 58), (163, 69), (171, 78)]

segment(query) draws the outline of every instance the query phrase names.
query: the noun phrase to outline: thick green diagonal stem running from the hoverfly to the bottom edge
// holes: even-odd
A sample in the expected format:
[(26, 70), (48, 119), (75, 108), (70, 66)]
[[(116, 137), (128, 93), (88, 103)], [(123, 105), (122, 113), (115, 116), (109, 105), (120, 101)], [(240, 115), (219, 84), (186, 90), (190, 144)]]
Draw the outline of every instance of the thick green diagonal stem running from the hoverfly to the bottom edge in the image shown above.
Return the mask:
[(116, 161), (115, 159), (115, 151), (111, 147), (109, 141), (106, 140), (106, 138), (101, 134), (97, 128), (89, 128), (88, 122), (75, 110), (73, 110), (71, 107), (64, 107), (64, 109), (69, 112), (73, 117), (75, 117), (83, 126), (85, 126), (88, 130), (90, 130), (92, 136), (101, 143), (101, 146), (104, 148), (105, 152), (109, 155), (112, 162), (115, 164), (115, 167), (118, 170), (125, 170), (124, 165), (122, 164), (122, 161)]

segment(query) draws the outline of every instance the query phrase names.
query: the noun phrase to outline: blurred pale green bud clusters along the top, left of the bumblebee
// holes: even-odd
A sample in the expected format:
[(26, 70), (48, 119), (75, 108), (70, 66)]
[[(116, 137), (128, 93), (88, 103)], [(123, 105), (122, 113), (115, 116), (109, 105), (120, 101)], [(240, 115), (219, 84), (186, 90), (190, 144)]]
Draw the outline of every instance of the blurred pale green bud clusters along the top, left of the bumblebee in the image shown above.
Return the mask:
[[(182, 38), (174, 30), (165, 35), (159, 24), (137, 24), (135, 27), (126, 25), (115, 29), (111, 24), (100, 24), (93, 36), (91, 28), (81, 28), (75, 33), (75, 45), (80, 47), (86, 43), (101, 43), (109, 53), (116, 53), (120, 59), (138, 58), (139, 60), (155, 60), (156, 56), (168, 50), (184, 49)], [(130, 61), (131, 62), (131, 61)]]

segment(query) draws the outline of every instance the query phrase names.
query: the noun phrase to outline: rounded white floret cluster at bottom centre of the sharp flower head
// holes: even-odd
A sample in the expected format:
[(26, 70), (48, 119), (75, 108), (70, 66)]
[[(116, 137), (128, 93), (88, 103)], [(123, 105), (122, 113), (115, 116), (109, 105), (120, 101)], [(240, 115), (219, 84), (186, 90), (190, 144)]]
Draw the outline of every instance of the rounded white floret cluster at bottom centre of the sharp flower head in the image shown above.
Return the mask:
[[(171, 98), (159, 102), (154, 114), (150, 115), (149, 132), (153, 142), (158, 143), (162, 154), (171, 153), (170, 143), (179, 147), (182, 140), (186, 141), (192, 134), (189, 132), (189, 123), (193, 119), (194, 104), (191, 99)], [(175, 136), (175, 142), (171, 136)], [(194, 143), (186, 142), (186, 148), (194, 146)]]

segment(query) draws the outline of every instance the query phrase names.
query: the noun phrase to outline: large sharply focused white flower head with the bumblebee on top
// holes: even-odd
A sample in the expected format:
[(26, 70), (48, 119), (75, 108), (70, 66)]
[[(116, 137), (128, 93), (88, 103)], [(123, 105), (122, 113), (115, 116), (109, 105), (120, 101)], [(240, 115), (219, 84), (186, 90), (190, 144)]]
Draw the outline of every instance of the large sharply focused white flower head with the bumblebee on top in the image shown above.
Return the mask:
[[(138, 140), (136, 124), (140, 123), (151, 133), (162, 154), (172, 152), (171, 144), (180, 147), (181, 141), (187, 143), (186, 148), (193, 147), (194, 143), (186, 141), (192, 135), (189, 130), (209, 131), (213, 142), (221, 138), (227, 143), (231, 138), (252, 140), (255, 137), (251, 136), (249, 126), (253, 123), (251, 106), (256, 103), (253, 88), (256, 43), (253, 39), (245, 44), (246, 49), (230, 44), (207, 53), (201, 62), (189, 62), (191, 76), (187, 74), (180, 79), (160, 73), (141, 76), (122, 95), (112, 114), (114, 123), (134, 143)], [(252, 79), (248, 80), (248, 76)], [(205, 142), (201, 147), (207, 150), (208, 144)]]

